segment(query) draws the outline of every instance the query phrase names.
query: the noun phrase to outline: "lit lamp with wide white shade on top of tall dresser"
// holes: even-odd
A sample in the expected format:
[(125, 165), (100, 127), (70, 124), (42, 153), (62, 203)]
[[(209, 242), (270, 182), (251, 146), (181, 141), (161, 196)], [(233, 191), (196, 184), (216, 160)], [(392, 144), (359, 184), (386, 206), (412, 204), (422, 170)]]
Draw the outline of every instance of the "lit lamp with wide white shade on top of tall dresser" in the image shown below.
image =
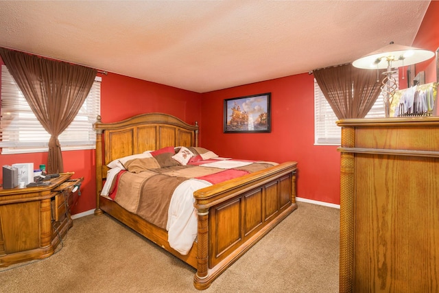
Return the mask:
[(352, 65), (361, 69), (387, 69), (383, 73), (386, 76), (383, 80), (381, 91), (384, 94), (385, 117), (389, 117), (390, 104), (392, 104), (394, 91), (396, 90), (396, 80), (392, 78), (392, 73), (395, 70), (392, 69), (423, 62), (433, 56), (434, 52), (432, 51), (396, 45), (390, 42), (389, 45), (355, 60)]

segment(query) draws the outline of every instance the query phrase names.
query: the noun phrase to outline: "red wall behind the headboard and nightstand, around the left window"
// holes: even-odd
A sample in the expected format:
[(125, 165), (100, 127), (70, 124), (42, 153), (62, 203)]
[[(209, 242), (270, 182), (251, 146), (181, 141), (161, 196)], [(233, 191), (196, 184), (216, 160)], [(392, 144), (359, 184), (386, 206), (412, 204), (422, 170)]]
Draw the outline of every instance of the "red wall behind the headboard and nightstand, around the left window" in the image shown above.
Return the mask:
[[(118, 121), (149, 112), (175, 115), (189, 124), (201, 120), (199, 93), (113, 73), (100, 76), (101, 116), (104, 122)], [(81, 196), (77, 205), (73, 207), (72, 214), (95, 209), (95, 150), (64, 151), (62, 159), (65, 172), (75, 172), (74, 178), (84, 176)], [(34, 163), (34, 166), (47, 164), (47, 153), (0, 154), (1, 166), (13, 163)], [(3, 181), (1, 172), (0, 181)]]

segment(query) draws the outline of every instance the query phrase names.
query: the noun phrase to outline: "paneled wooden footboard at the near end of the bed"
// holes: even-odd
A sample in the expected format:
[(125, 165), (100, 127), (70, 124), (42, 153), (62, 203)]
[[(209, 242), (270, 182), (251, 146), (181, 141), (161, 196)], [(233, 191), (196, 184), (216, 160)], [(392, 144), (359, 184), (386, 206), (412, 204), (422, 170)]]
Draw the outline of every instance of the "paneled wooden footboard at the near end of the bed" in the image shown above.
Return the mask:
[(195, 191), (195, 288), (209, 288), (219, 274), (297, 208), (296, 165), (283, 163)]

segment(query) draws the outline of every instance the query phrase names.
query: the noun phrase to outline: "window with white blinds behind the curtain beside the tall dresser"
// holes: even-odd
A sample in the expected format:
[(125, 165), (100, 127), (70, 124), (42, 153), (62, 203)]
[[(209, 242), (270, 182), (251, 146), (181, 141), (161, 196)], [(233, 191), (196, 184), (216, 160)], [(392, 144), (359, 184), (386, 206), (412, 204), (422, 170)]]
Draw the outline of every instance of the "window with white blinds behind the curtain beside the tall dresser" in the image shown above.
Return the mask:
[[(398, 71), (393, 74), (398, 83)], [(383, 95), (380, 93), (377, 101), (370, 109), (366, 118), (379, 118), (384, 115)], [(324, 97), (320, 86), (314, 79), (314, 145), (340, 145), (342, 129), (335, 124), (337, 121), (334, 111)]]

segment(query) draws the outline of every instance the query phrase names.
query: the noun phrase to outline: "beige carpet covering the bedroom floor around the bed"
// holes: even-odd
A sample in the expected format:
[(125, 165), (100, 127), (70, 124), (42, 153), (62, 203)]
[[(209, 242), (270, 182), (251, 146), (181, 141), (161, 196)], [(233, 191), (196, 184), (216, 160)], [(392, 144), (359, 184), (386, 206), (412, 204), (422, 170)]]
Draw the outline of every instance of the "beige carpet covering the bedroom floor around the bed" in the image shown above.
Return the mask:
[[(298, 206), (202, 292), (338, 292), (340, 210)], [(88, 215), (55, 255), (1, 268), (0, 292), (200, 292), (194, 274), (108, 215)]]

